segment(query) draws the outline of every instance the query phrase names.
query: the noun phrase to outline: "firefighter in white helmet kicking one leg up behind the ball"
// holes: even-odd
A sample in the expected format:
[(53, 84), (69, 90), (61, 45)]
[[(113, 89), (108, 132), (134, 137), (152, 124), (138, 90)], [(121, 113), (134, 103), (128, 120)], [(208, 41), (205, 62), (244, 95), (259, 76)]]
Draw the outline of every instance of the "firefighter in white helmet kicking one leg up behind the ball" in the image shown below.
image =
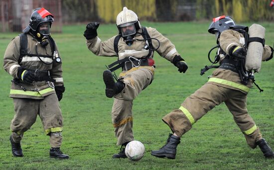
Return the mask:
[[(133, 100), (153, 80), (154, 61), (153, 51), (173, 63), (179, 72), (187, 70), (186, 62), (181, 58), (175, 46), (169, 39), (151, 27), (142, 27), (137, 14), (123, 8), (117, 15), (119, 35), (106, 41), (101, 41), (97, 36), (98, 22), (87, 24), (84, 36), (88, 48), (99, 56), (118, 56), (118, 61), (109, 65), (112, 67), (103, 73), (106, 84), (106, 96), (114, 97), (112, 108), (112, 123), (117, 145), (122, 145), (120, 153), (113, 158), (126, 158), (125, 147), (134, 140), (133, 135)], [(112, 71), (122, 67), (118, 81), (115, 82)]]

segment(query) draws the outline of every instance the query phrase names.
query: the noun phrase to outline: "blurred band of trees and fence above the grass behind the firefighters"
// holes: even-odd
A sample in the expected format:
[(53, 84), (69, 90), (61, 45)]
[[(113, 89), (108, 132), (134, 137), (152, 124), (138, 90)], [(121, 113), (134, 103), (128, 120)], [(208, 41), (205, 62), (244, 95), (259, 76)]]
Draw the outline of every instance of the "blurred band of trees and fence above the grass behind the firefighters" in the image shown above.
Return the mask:
[(141, 21), (209, 20), (232, 16), (236, 23), (274, 21), (271, 0), (0, 0), (0, 31), (20, 31), (38, 6), (48, 8), (56, 18), (55, 31), (62, 23), (99, 21), (116, 23), (124, 6), (135, 11)]

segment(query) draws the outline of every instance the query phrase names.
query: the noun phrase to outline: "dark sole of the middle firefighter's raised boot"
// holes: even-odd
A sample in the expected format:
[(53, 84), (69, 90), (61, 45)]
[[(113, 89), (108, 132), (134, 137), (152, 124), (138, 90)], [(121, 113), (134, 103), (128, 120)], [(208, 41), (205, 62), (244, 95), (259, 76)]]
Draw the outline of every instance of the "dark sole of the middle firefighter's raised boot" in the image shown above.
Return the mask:
[(114, 96), (115, 81), (110, 70), (105, 70), (103, 73), (104, 83), (106, 85), (106, 96), (112, 98)]

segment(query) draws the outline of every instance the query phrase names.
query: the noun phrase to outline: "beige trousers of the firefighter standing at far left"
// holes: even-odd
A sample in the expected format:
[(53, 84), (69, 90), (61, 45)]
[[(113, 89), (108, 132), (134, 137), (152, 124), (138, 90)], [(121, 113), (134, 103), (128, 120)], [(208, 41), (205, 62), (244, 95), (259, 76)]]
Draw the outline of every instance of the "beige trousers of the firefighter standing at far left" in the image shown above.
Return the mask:
[[(15, 115), (11, 121), (10, 129), (13, 132), (12, 139), (14, 142), (20, 142), (23, 133), (35, 123), (36, 117), (39, 115), (43, 123), (44, 131), (50, 136), (51, 147), (61, 147), (63, 118), (55, 93), (39, 100), (13, 98), (13, 104)], [(52, 133), (54, 133), (54, 135), (51, 135)]]

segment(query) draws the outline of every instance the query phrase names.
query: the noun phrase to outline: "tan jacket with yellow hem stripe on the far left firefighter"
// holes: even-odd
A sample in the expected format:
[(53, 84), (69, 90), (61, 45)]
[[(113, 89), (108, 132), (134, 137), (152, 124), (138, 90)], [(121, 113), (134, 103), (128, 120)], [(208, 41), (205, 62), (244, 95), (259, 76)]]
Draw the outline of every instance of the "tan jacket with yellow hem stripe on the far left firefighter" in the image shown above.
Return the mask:
[[(27, 53), (34, 54), (34, 56), (25, 55), (23, 56), (22, 61), (18, 63), (20, 55), (19, 36), (16, 36), (11, 40), (4, 53), (3, 67), (5, 71), (8, 72), (14, 79), (19, 80), (19, 84), (16, 84), (14, 82), (11, 83), (9, 97), (43, 99), (44, 96), (55, 93), (54, 85), (63, 85), (62, 62), (57, 63), (56, 61), (54, 61), (52, 64), (42, 63), (40, 59), (45, 63), (51, 63), (53, 61), (53, 59), (51, 58), (52, 51), (50, 44), (48, 44), (45, 48), (42, 47), (40, 44), (37, 44), (37, 51), (40, 56), (39, 59), (35, 51), (35, 44), (37, 41), (29, 34), (27, 34), (27, 39)], [(56, 57), (60, 57), (56, 44), (55, 51)], [(50, 73), (50, 77), (55, 79), (56, 83), (52, 83), (49, 81), (33, 82), (32, 84), (24, 83), (17, 76), (17, 70), (19, 67), (32, 70), (38, 69), (40, 71), (48, 70)]]

